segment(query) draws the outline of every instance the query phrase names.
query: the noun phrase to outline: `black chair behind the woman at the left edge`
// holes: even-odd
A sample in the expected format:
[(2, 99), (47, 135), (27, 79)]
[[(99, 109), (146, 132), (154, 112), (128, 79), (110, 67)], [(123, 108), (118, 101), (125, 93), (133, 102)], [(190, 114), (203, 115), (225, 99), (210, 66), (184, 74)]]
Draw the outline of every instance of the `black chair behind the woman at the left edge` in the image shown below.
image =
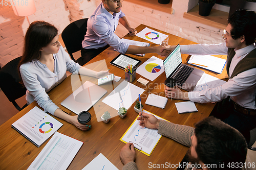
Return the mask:
[(20, 61), (18, 57), (7, 63), (2, 69), (0, 69), (0, 88), (3, 90), (10, 102), (18, 109), (18, 111), (24, 109), (27, 104), (22, 108), (15, 102), (16, 99), (26, 94), (26, 87), (19, 83), (20, 78), (18, 75), (18, 63)]

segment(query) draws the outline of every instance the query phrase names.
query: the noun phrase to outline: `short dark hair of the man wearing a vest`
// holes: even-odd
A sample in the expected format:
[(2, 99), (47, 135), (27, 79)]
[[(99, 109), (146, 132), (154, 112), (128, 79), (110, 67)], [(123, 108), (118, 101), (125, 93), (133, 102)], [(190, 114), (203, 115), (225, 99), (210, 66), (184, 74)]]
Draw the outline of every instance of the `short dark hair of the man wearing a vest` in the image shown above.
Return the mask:
[(228, 23), (232, 26), (230, 35), (233, 39), (240, 38), (244, 35), (246, 45), (250, 45), (256, 41), (256, 13), (254, 11), (235, 11), (228, 18)]

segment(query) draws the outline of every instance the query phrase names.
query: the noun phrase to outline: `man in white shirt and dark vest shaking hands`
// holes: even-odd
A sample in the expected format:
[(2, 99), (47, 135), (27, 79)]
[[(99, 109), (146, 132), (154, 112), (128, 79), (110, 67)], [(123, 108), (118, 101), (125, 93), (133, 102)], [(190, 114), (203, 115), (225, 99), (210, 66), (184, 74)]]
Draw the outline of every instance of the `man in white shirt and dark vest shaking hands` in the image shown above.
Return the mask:
[[(250, 145), (250, 130), (256, 127), (256, 13), (238, 10), (228, 18), (224, 43), (180, 45), (190, 55), (227, 55), (229, 80), (216, 88), (184, 92), (165, 88), (168, 98), (198, 103), (220, 102), (217, 112), (223, 122), (239, 130)], [(165, 47), (172, 50), (174, 46)], [(222, 113), (221, 113), (222, 112)], [(223, 117), (224, 116), (224, 117)], [(253, 141), (251, 141), (253, 142)]]

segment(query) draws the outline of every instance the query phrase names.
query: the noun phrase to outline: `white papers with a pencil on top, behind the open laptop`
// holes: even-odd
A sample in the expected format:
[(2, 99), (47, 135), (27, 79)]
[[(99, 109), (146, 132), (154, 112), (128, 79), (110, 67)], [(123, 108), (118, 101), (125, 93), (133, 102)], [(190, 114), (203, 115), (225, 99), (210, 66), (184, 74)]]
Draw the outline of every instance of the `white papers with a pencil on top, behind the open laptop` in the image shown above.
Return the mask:
[(221, 74), (226, 60), (210, 55), (192, 55), (187, 63)]

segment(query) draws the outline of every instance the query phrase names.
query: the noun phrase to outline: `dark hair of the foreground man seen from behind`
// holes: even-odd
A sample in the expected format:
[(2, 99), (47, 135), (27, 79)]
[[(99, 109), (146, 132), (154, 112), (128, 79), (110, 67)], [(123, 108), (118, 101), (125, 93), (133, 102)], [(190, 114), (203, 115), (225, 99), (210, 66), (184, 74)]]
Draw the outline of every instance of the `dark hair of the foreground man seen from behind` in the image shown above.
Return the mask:
[(242, 166), (247, 155), (246, 140), (238, 130), (210, 116), (195, 125), (195, 136), (198, 158), (206, 165), (217, 164), (210, 169), (241, 169), (231, 166), (237, 162)]

